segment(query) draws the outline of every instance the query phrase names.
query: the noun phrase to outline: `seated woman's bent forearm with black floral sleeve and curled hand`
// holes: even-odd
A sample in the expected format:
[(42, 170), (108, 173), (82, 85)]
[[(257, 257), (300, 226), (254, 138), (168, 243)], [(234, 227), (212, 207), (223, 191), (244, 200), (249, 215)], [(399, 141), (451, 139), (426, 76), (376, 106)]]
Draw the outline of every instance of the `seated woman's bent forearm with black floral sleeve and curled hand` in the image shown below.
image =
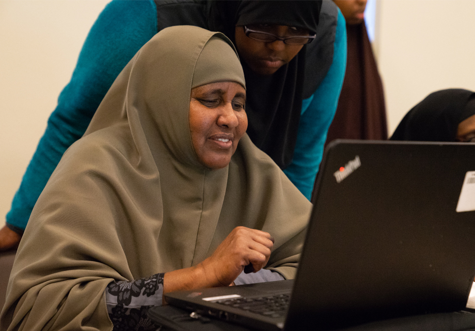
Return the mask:
[[(112, 282), (105, 290), (109, 318), (117, 327), (130, 327), (130, 321), (151, 325), (147, 316), (148, 309), (166, 303), (163, 294), (176, 290), (230, 285), (248, 263), (260, 275), (247, 278), (247, 283), (270, 279), (273, 273), (269, 270), (265, 270), (265, 273), (261, 269), (270, 255), (272, 240), (269, 238), (271, 239), (267, 232), (238, 227), (226, 237), (213, 255), (196, 266), (155, 274), (147, 279)], [(275, 275), (277, 276), (273, 280), (282, 279), (279, 274)], [(246, 280), (246, 277), (242, 276), (241, 279)]]

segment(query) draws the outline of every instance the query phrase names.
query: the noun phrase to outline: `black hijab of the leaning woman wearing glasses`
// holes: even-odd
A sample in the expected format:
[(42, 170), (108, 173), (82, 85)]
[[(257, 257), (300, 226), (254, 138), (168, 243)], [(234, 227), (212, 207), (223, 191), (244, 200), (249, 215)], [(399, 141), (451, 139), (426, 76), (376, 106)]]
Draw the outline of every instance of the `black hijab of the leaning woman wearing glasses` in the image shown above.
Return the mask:
[[(233, 42), (237, 25), (289, 25), (316, 33), (321, 7), (322, 1), (215, 1), (208, 25)], [(247, 134), (282, 169), (292, 162), (302, 98), (309, 94), (304, 93), (306, 49), (270, 76), (254, 73), (241, 61), (247, 86)]]

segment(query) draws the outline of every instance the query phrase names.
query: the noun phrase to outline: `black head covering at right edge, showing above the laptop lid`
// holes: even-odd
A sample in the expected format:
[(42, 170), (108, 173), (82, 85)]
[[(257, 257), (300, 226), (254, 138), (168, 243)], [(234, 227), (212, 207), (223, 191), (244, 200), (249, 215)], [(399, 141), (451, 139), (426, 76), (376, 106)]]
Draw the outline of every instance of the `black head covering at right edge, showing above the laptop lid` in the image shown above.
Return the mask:
[(391, 140), (455, 141), (460, 122), (475, 115), (475, 93), (447, 89), (429, 94), (402, 119)]

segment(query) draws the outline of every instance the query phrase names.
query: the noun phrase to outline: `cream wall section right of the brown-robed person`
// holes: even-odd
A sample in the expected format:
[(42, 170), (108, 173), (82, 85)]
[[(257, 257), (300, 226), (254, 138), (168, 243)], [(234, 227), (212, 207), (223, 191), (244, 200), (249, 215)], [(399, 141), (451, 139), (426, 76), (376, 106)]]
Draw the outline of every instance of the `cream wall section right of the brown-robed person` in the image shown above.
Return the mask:
[(376, 18), (389, 133), (433, 91), (475, 91), (474, 0), (378, 0)]

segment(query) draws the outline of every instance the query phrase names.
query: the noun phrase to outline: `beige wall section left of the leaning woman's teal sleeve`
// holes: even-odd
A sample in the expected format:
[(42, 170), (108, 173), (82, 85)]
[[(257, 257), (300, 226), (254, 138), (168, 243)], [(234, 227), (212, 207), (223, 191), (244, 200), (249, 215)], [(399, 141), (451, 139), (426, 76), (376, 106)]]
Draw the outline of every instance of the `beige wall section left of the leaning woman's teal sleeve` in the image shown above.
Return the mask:
[(108, 0), (0, 0), (0, 226)]

